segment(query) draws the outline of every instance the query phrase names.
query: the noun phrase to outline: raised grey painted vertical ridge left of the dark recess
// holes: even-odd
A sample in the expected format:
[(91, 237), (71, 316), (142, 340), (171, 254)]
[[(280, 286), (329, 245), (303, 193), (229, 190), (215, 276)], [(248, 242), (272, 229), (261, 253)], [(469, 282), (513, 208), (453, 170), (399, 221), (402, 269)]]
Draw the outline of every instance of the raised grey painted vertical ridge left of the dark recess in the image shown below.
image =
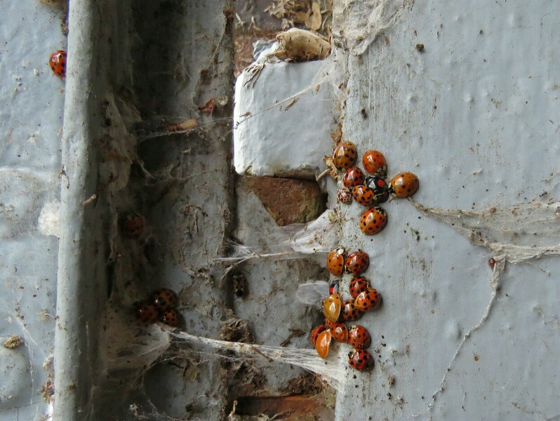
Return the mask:
[[(100, 200), (95, 197), (95, 105), (103, 78), (98, 69), (101, 7), (97, 1), (69, 2), (68, 72), (62, 137), (61, 227), (55, 329), (53, 420), (90, 416), (95, 384), (91, 367), (97, 336), (95, 314), (107, 288)], [(95, 86), (91, 83), (95, 81)], [(99, 115), (99, 113), (97, 113)], [(91, 361), (93, 360), (93, 361)]]

